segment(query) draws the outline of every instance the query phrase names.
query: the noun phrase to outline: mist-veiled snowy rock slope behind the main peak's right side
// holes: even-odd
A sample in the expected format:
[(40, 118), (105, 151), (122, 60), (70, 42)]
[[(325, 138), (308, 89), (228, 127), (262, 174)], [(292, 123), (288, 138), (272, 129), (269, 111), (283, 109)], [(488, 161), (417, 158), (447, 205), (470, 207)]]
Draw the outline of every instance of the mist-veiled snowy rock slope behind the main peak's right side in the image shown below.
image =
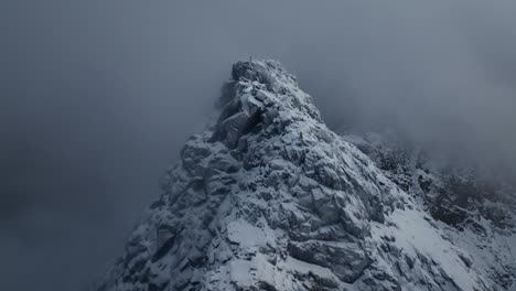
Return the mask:
[[(433, 225), (495, 290), (516, 289), (516, 188), (471, 164), (443, 164), (393, 132), (344, 134), (386, 176), (420, 202)], [(498, 289), (496, 289), (498, 288)]]

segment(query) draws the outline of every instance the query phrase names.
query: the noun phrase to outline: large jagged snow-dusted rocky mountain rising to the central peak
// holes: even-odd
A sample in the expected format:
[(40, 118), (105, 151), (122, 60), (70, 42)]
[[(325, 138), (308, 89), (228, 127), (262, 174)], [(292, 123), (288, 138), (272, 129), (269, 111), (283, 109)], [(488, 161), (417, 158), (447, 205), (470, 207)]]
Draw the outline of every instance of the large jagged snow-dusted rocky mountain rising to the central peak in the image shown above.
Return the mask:
[(329, 130), (280, 64), (236, 63), (219, 104), (98, 290), (515, 290), (509, 224), (495, 278), (494, 250)]

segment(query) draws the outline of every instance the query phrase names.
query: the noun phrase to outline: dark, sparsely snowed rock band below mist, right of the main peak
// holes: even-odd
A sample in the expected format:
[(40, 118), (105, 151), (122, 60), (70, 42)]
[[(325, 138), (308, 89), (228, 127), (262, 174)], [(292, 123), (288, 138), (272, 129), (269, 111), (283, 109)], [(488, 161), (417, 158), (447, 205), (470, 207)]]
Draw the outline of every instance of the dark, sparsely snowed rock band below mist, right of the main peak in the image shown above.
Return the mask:
[[(455, 227), (471, 226), (477, 213), (498, 228), (514, 228), (515, 181), (486, 176), (466, 163), (437, 164), (422, 149), (401, 142), (394, 133), (344, 136), (367, 154), (384, 174), (420, 197), (433, 216)], [(485, 172), (485, 171), (484, 171)]]

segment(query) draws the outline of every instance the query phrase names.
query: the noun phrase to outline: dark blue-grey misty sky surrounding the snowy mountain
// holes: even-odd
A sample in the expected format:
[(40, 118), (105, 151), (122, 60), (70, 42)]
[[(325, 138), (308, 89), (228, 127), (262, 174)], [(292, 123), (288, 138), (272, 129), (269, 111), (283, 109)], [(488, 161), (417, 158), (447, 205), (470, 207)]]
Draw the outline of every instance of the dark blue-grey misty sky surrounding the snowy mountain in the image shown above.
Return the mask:
[(334, 128), (396, 125), (515, 169), (515, 11), (502, 0), (2, 1), (0, 290), (85, 290), (101, 274), (249, 55), (298, 75)]

